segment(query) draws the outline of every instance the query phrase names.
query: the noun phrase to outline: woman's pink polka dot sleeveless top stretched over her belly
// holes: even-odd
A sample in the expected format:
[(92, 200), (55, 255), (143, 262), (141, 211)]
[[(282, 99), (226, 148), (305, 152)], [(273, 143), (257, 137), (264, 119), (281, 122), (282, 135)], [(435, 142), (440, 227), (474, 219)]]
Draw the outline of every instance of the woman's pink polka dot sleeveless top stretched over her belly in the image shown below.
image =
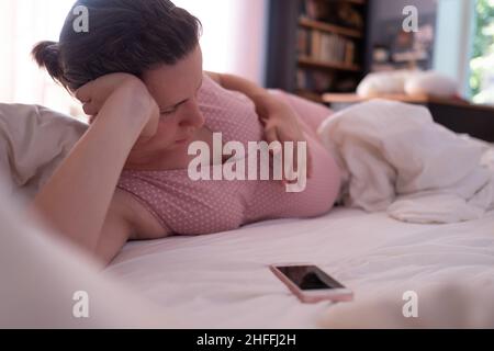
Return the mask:
[[(223, 89), (204, 75), (198, 99), (205, 126), (221, 132), (223, 143), (240, 141), (247, 151), (249, 141), (262, 140), (262, 125), (247, 97)], [(306, 137), (313, 174), (300, 193), (287, 192), (274, 180), (193, 181), (187, 169), (124, 170), (117, 188), (135, 196), (164, 228), (177, 235), (212, 234), (263, 219), (323, 215), (337, 196), (339, 170), (315, 135), (307, 133)]]

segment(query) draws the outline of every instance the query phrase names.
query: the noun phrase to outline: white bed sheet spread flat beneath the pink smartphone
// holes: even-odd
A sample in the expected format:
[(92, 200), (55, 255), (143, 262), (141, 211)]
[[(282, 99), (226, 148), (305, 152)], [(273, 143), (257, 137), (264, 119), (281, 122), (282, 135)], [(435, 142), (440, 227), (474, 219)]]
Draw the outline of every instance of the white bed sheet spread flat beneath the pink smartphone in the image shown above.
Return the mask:
[(454, 225), (412, 225), (337, 208), (202, 237), (131, 242), (108, 269), (199, 328), (314, 328), (330, 303), (301, 304), (267, 268), (313, 262), (356, 299), (462, 280), (494, 283), (494, 213)]

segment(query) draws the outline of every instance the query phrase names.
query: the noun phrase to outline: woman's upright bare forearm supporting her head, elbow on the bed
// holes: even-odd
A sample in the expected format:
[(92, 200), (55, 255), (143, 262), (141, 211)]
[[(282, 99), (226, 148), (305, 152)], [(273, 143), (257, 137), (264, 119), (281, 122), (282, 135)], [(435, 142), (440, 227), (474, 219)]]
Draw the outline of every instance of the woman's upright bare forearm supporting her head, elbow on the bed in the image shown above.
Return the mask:
[[(157, 118), (158, 107), (146, 87), (130, 77), (119, 80), (98, 117), (33, 203), (49, 226), (91, 252), (98, 248), (128, 154), (150, 120)], [(94, 100), (90, 94), (88, 99)]]

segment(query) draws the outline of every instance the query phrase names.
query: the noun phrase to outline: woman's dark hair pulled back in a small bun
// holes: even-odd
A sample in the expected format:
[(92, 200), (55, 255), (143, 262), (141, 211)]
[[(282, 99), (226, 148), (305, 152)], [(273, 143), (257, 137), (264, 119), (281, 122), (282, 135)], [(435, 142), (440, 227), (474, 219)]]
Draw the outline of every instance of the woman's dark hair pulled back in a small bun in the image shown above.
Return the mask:
[[(74, 25), (80, 5), (88, 9), (87, 32)], [(32, 54), (40, 67), (75, 91), (109, 73), (142, 77), (158, 65), (175, 65), (197, 47), (200, 32), (199, 20), (168, 0), (79, 0), (59, 43), (38, 43)]]

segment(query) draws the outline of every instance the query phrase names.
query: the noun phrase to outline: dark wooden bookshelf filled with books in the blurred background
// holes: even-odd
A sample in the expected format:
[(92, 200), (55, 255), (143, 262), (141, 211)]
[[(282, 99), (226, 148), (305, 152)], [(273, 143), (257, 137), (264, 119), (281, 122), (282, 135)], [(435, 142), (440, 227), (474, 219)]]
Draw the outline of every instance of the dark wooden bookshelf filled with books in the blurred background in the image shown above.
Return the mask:
[(270, 0), (268, 88), (324, 102), (366, 67), (368, 0)]

